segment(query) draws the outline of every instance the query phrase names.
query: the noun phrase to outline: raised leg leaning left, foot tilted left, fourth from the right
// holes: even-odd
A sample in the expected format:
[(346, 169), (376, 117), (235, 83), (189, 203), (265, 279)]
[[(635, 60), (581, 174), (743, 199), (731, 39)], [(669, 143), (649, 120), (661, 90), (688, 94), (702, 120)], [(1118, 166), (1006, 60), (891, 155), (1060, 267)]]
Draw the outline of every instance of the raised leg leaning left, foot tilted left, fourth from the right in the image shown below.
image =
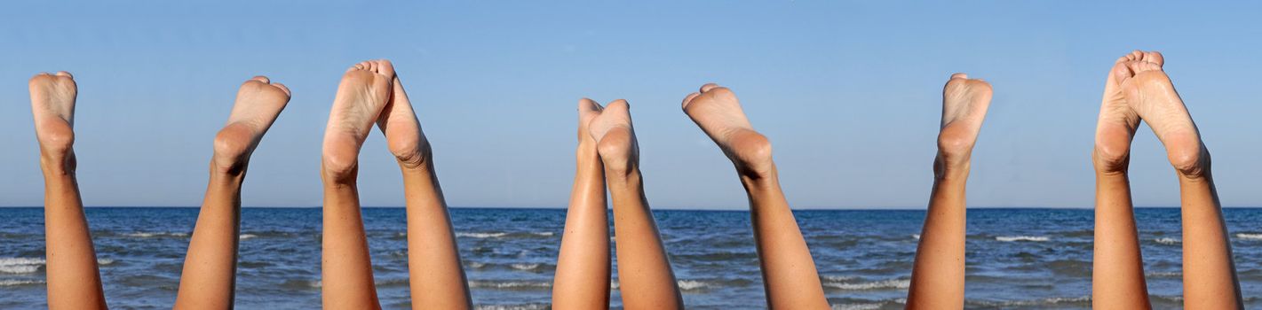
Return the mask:
[(684, 98), (683, 108), (732, 160), (745, 185), (762, 262), (767, 307), (829, 309), (815, 261), (780, 190), (780, 176), (771, 160), (771, 142), (753, 131), (741, 102), (727, 87), (702, 86), (699, 93)]

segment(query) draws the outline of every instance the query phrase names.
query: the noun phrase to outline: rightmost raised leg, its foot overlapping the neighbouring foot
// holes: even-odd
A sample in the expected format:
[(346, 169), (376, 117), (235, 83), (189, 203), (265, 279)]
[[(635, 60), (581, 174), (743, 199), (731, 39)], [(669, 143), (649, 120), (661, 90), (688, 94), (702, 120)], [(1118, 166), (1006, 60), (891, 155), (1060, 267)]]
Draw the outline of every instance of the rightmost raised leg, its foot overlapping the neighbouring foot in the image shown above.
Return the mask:
[(1242, 309), (1232, 246), (1210, 174), (1209, 150), (1170, 77), (1160, 53), (1126, 62), (1114, 71), (1127, 103), (1148, 122), (1166, 146), (1179, 174), (1182, 197), (1184, 304), (1205, 309)]

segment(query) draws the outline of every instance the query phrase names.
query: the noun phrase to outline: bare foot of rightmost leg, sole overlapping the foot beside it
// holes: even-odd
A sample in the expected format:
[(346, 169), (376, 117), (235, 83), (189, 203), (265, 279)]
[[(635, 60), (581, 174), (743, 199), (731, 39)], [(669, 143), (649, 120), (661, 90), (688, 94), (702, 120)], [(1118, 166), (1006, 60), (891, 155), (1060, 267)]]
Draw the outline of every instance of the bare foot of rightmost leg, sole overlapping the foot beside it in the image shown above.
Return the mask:
[(1201, 176), (1209, 166), (1209, 151), (1201, 145), (1196, 123), (1179, 98), (1174, 83), (1161, 69), (1165, 64), (1161, 53), (1147, 52), (1140, 59), (1119, 64), (1122, 66), (1113, 67), (1118, 88), (1131, 110), (1148, 122), (1148, 127), (1166, 146), (1170, 164), (1185, 176)]

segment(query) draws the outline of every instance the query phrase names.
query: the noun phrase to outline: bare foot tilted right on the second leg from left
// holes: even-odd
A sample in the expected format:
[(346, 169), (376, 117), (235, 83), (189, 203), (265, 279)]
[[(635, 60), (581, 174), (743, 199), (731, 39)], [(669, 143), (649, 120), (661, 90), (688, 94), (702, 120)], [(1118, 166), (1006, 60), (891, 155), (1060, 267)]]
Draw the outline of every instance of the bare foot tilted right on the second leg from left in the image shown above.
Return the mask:
[(215, 165), (225, 173), (240, 171), (250, 161), (262, 135), (285, 105), (289, 88), (257, 76), (241, 83), (227, 125), (215, 136)]

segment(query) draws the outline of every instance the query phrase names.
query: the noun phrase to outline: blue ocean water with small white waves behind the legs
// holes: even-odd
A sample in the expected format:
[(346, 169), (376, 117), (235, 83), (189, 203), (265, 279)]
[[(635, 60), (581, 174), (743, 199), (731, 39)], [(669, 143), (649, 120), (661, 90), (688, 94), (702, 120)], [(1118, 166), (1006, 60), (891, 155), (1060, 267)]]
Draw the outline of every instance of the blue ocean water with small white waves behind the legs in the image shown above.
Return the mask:
[[(88, 208), (105, 294), (115, 309), (169, 309), (196, 208)], [(404, 209), (366, 208), (377, 292), (409, 305)], [(1247, 307), (1262, 307), (1262, 209), (1224, 209)], [(658, 210), (693, 309), (765, 307), (747, 212)], [(834, 309), (901, 309), (924, 210), (796, 212)], [(969, 309), (1088, 309), (1090, 209), (970, 209)], [(0, 208), (0, 309), (44, 309), (43, 209)], [(236, 305), (318, 309), (321, 210), (245, 208)], [(453, 208), (481, 309), (548, 309), (564, 209)], [(1181, 307), (1179, 209), (1137, 210), (1148, 291)], [(612, 229), (611, 229), (612, 231)], [(615, 270), (616, 272), (616, 270)], [(616, 275), (611, 285), (618, 307)]]

